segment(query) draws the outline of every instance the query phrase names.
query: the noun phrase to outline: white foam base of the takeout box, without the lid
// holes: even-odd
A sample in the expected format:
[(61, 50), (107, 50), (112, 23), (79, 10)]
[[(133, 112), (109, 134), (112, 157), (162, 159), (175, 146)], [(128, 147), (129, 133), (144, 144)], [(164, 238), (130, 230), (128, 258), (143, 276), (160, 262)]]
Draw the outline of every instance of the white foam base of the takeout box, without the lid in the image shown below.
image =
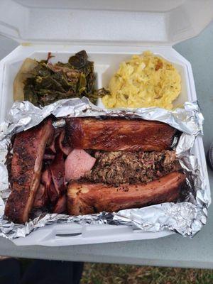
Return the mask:
[[(173, 48), (160, 46), (140, 46), (140, 47), (103, 47), (87, 45), (30, 45), (19, 46), (8, 55), (0, 64), (1, 84), (1, 121), (4, 120), (13, 104), (13, 80), (16, 76), (23, 60), (35, 58), (42, 60), (47, 57), (48, 52), (55, 56), (51, 62), (67, 62), (71, 55), (80, 50), (87, 50), (89, 60), (94, 61), (94, 72), (96, 73), (96, 87), (107, 87), (111, 75), (116, 72), (119, 63), (127, 60), (133, 54), (143, 53), (144, 50), (151, 50), (156, 55), (169, 60), (175, 65), (182, 78), (182, 91), (175, 104), (183, 104), (187, 101), (196, 100), (195, 84), (192, 76), (190, 62), (185, 60)], [(99, 107), (102, 103), (99, 102)], [(204, 148), (202, 138), (195, 141), (194, 153), (199, 160), (202, 175), (208, 183), (207, 167), (205, 163)], [(209, 186), (207, 187), (210, 195)], [(173, 234), (171, 231), (161, 231), (158, 233), (144, 232), (132, 229), (128, 226), (111, 225), (78, 225), (78, 224), (54, 224), (40, 228), (26, 238), (18, 238), (13, 242), (17, 245), (45, 245), (45, 246), (65, 246), (75, 244), (97, 244), (110, 241), (129, 241), (136, 239), (155, 239)]]

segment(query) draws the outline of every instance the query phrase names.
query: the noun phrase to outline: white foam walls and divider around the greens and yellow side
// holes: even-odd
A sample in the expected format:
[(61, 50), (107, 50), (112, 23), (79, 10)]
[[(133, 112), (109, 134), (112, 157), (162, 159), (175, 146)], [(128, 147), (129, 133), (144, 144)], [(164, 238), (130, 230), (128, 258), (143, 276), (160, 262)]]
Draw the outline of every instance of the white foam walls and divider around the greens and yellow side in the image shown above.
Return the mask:
[[(59, 45), (45, 45), (45, 48), (43, 45), (34, 45), (29, 47), (20, 46), (16, 48), (16, 50), (13, 50), (13, 52), (4, 58), (4, 60), (2, 60), (2, 62), (4, 62), (4, 77), (1, 94), (4, 94), (4, 96), (0, 97), (0, 120), (2, 121), (4, 119), (13, 104), (13, 80), (23, 63), (23, 60), (25, 60), (27, 57), (36, 60), (45, 59), (47, 58), (49, 50), (54, 55), (54, 57), (50, 59), (50, 62), (67, 62), (71, 55), (74, 55), (77, 51), (82, 49), (87, 50), (89, 60), (94, 61), (96, 87), (98, 89), (108, 86), (111, 76), (114, 74), (114, 72), (116, 72), (116, 70), (118, 70), (121, 61), (128, 60), (133, 54), (140, 54), (143, 53), (144, 50), (151, 50), (156, 55), (159, 55), (172, 62), (173, 65), (178, 69), (178, 72), (180, 72), (180, 76), (182, 78), (182, 89), (180, 96), (174, 102), (174, 106), (183, 104), (188, 100), (196, 99), (195, 86), (193, 85), (190, 87), (190, 80), (193, 78), (190, 63), (182, 58), (182, 56), (173, 50), (173, 48), (153, 48), (146, 46), (140, 48), (114, 47), (112, 50), (107, 50), (107, 48), (92, 48), (89, 46), (87, 48), (85, 46), (63, 47)], [(101, 99), (99, 99), (98, 106), (104, 107)]]

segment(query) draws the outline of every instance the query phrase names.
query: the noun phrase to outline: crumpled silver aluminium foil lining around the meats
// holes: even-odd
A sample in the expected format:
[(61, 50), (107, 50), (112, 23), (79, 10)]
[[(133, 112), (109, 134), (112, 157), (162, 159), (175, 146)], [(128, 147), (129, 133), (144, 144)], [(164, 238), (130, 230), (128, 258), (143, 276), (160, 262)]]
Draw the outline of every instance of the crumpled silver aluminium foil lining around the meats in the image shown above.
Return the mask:
[[(4, 204), (9, 196), (10, 185), (7, 171), (7, 155), (14, 133), (39, 124), (45, 117), (53, 114), (62, 116), (127, 116), (147, 120), (162, 121), (182, 131), (175, 149), (182, 168), (187, 173), (187, 195), (180, 203), (163, 203), (141, 209), (125, 209), (117, 213), (67, 216), (64, 214), (45, 214), (27, 222), (25, 225), (13, 224), (4, 219)], [(171, 230), (182, 236), (194, 236), (207, 222), (207, 207), (211, 197), (200, 171), (197, 158), (190, 153), (197, 135), (202, 134), (203, 116), (197, 102), (186, 102), (184, 109), (168, 111), (159, 108), (143, 109), (99, 109), (87, 98), (63, 99), (43, 109), (30, 102), (15, 102), (8, 119), (0, 125), (0, 236), (16, 239), (31, 233), (34, 229), (54, 223), (78, 224), (116, 224), (128, 225), (143, 231)]]

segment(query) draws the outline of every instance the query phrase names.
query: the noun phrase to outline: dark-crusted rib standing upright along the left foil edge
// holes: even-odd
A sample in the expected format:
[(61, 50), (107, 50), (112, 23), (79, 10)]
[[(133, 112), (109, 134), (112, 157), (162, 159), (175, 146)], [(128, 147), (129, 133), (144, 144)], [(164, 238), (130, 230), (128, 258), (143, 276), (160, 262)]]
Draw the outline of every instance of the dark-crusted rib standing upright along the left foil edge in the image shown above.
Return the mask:
[(28, 221), (35, 194), (40, 185), (40, 172), (45, 146), (53, 138), (51, 119), (16, 135), (11, 162), (12, 192), (6, 202), (5, 215), (16, 223)]

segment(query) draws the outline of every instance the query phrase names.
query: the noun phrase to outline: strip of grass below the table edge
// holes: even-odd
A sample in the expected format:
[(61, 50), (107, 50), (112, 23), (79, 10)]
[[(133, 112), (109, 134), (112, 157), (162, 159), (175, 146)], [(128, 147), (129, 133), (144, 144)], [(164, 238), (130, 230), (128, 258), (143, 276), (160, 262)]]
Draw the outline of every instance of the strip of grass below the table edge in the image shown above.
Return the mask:
[(207, 269), (85, 263), (81, 284), (212, 284)]

